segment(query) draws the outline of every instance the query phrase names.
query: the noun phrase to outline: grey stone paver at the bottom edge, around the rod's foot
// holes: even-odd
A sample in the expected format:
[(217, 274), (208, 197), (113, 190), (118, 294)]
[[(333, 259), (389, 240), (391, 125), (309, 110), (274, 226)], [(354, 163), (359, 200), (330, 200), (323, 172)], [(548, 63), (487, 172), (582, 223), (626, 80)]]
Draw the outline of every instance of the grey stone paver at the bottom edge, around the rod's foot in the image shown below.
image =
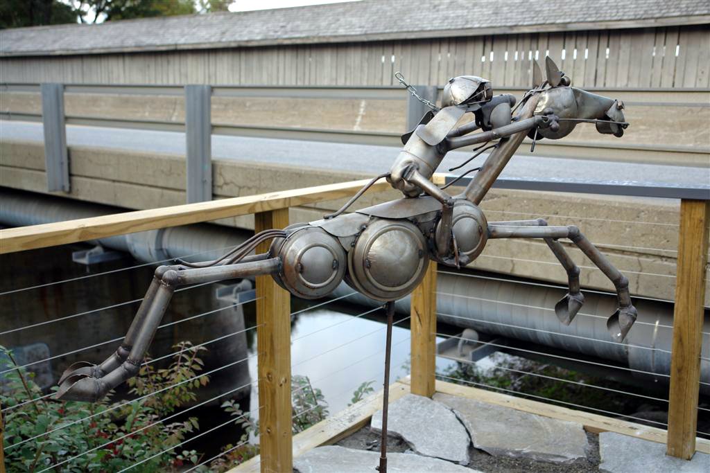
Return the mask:
[[(379, 452), (353, 450), (330, 445), (318, 447), (293, 459), (293, 467), (300, 473), (373, 473), (380, 464)], [(410, 453), (388, 453), (387, 471), (481, 473), (438, 458), (421, 457)]]

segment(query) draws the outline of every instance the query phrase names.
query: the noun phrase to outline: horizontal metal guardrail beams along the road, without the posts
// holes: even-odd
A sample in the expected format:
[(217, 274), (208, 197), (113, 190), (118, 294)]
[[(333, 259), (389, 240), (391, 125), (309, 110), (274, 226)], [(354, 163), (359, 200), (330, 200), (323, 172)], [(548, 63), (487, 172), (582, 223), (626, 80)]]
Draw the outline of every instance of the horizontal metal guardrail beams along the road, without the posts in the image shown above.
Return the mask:
[[(420, 110), (417, 104), (412, 104), (410, 97), (400, 87), (348, 87), (348, 86), (210, 86), (210, 97), (215, 99), (238, 97), (266, 97), (271, 99), (373, 99), (408, 101), (408, 108), (413, 111)], [(424, 89), (423, 86), (415, 86)], [(40, 84), (0, 84), (0, 93), (38, 93)], [(436, 89), (440, 93), (442, 87), (427, 87)], [(181, 86), (161, 85), (104, 85), (104, 84), (65, 84), (65, 94), (103, 94), (103, 95), (132, 95), (132, 96), (185, 96), (185, 88)], [(680, 106), (680, 107), (707, 107), (710, 89), (679, 88), (679, 89), (621, 89), (597, 88), (592, 92), (614, 94), (628, 106)], [(501, 88), (498, 93), (510, 93), (520, 96), (522, 89)], [(187, 108), (187, 107), (186, 107)], [(417, 118), (412, 116), (417, 113), (408, 113), (408, 124), (415, 123)], [(421, 113), (418, 113), (421, 116)], [(40, 113), (0, 112), (0, 118), (7, 120), (40, 121)], [(65, 117), (69, 125), (103, 126), (115, 128), (140, 128), (159, 131), (185, 131), (184, 121), (163, 121), (135, 118), (114, 118), (110, 116), (82, 116), (68, 113)], [(284, 138), (294, 140), (328, 141), (339, 143), (361, 143), (369, 145), (398, 145), (400, 130), (376, 131), (353, 130), (324, 127), (278, 126), (263, 123), (251, 126), (246, 123), (220, 123), (213, 121), (212, 133), (215, 135), (239, 135), (250, 137)], [(407, 127), (410, 128), (409, 126)], [(403, 131), (403, 130), (402, 130)], [(689, 147), (667, 143), (588, 143), (579, 140), (565, 140), (564, 143), (555, 140), (544, 140), (537, 144), (542, 155), (557, 157), (579, 157), (581, 159), (596, 159), (594, 150), (604, 148), (605, 155), (611, 159), (633, 162), (648, 162), (659, 160), (674, 165), (703, 165), (706, 157), (710, 155), (710, 147)], [(526, 150), (521, 148), (521, 153)], [(659, 155), (660, 153), (660, 155)], [(659, 157), (661, 156), (661, 157)], [(652, 159), (651, 159), (652, 157)]]

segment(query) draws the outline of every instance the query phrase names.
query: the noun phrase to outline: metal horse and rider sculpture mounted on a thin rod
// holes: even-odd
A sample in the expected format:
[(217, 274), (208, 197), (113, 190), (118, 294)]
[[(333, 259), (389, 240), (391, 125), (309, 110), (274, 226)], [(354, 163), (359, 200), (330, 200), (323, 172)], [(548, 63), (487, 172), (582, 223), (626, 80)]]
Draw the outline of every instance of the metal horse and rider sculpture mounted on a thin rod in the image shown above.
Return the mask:
[[(533, 88), (518, 106), (510, 94), (493, 96), (491, 83), (486, 79), (474, 76), (450, 79), (444, 87), (442, 108), (420, 99), (432, 111), (427, 112), (415, 130), (403, 135), (404, 148), (390, 172), (373, 179), (336, 213), (320, 221), (258, 233), (218, 260), (158, 267), (118, 350), (101, 365), (79, 363), (67, 369), (60, 379), (58, 399), (96, 401), (136, 376), (175, 288), (184, 284), (271, 274), (291, 294), (317, 299), (345, 281), (361, 294), (386, 302), (389, 348), (393, 301), (415, 289), (429, 261), (453, 267), (468, 265), (491, 238), (545, 240), (569, 278), (569, 292), (555, 305), (555, 313), (565, 325), (572, 322), (584, 303), (579, 290), (579, 268), (558, 241), (571, 240), (616, 287), (618, 309), (608, 318), (607, 327), (613, 340), (623, 340), (636, 319), (628, 279), (579, 228), (547, 226), (542, 218), (488, 222), (479, 208), (526, 135), (533, 140), (555, 140), (568, 135), (578, 123), (589, 122), (596, 124), (599, 133), (621, 137), (628, 126), (620, 101), (569, 87), (569, 77), (549, 57), (545, 69), (547, 78), (543, 80), (540, 67), (533, 63)], [(407, 85), (400, 74), (398, 79)], [(457, 127), (466, 113), (473, 113), (474, 120)], [(471, 133), (479, 129), (479, 133)], [(479, 144), (474, 157), (485, 150), (492, 151), (484, 165), (469, 171), (478, 172), (463, 194), (450, 196), (444, 188), (432, 183), (432, 175), (449, 150)], [(382, 177), (402, 191), (404, 198), (344, 213)], [(269, 252), (250, 255), (265, 240), (273, 240)], [(386, 372), (388, 358), (386, 350)], [(385, 393), (387, 384), (386, 374)], [(383, 421), (381, 471), (386, 469), (386, 417)]]

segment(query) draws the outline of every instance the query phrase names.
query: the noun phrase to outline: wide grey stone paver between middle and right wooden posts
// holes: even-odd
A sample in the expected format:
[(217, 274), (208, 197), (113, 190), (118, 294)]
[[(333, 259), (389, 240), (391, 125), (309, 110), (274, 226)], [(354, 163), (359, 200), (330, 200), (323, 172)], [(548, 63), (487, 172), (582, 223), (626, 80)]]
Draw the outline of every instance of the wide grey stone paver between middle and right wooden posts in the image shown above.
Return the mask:
[(577, 423), (447, 394), (437, 393), (434, 399), (454, 409), (474, 447), (491, 455), (555, 463), (586, 457), (586, 433)]

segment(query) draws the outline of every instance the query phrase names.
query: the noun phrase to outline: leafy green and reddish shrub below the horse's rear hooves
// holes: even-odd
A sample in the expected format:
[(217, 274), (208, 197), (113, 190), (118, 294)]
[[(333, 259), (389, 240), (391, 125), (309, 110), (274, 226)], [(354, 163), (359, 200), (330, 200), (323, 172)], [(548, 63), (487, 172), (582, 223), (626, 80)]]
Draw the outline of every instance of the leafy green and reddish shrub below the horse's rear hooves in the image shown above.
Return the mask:
[(186, 382), (202, 369), (197, 355), (204, 348), (187, 342), (175, 348), (178, 352), (170, 366), (143, 365), (138, 377), (129, 382), (131, 394), (137, 396), (169, 389), (132, 403), (84, 404), (43, 397), (33, 374), (18, 367), (11, 352), (0, 347), (9, 368), (16, 368), (4, 374), (0, 392), (2, 406), (12, 408), (4, 416), (8, 471), (35, 472), (55, 466), (70, 472), (118, 471), (155, 455), (141, 464), (141, 472), (164, 472), (198, 460), (196, 452), (167, 450), (199, 428), (197, 418), (160, 422), (194, 400), (195, 389), (209, 382), (207, 376)]

